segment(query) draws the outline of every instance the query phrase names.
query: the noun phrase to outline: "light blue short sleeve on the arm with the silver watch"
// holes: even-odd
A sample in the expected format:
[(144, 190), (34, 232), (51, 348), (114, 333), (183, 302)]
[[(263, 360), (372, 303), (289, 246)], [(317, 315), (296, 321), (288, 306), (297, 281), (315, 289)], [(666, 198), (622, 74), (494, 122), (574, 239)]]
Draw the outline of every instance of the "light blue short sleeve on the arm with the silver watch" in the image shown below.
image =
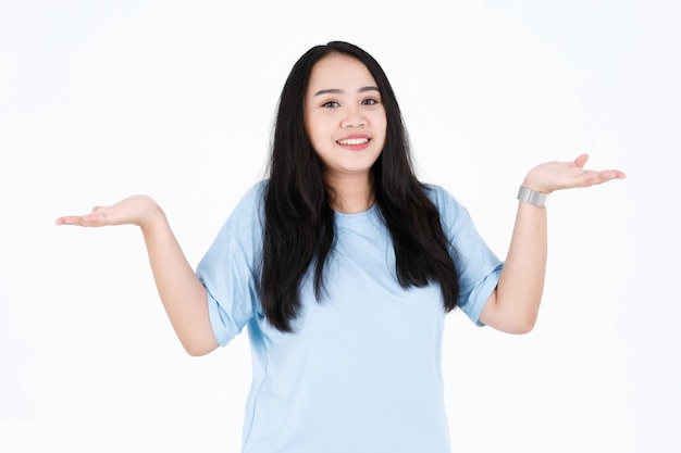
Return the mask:
[(504, 262), (480, 236), (466, 207), (438, 186), (428, 185), (441, 213), (450, 254), (459, 274), (459, 307), (479, 326), (480, 314), (495, 290)]

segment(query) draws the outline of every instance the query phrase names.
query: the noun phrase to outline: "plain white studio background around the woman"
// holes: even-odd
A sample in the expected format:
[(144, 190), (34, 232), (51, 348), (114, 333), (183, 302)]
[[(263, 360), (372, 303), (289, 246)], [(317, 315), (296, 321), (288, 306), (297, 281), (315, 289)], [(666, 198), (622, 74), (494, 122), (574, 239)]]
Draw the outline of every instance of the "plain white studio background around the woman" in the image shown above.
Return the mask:
[(149, 193), (195, 265), (333, 39), (381, 62), (420, 177), (500, 256), (531, 166), (628, 174), (552, 196), (533, 332), (447, 318), (454, 451), (681, 451), (677, 4), (1, 0), (0, 451), (239, 450), (246, 335), (187, 356), (139, 231), (53, 221)]

